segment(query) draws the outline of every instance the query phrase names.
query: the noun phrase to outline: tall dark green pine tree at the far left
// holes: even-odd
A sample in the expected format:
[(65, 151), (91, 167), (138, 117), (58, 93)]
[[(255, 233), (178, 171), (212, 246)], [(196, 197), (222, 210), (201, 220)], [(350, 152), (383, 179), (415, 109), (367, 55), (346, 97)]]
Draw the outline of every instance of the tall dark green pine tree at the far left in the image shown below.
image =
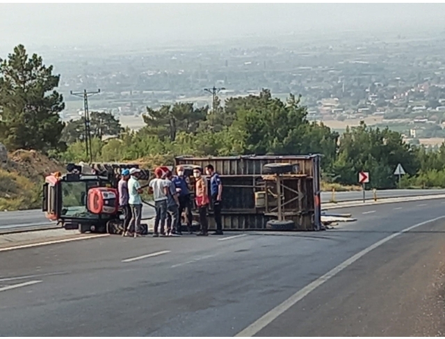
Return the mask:
[(65, 104), (54, 90), (59, 79), (52, 65), (45, 66), (37, 54), (29, 58), (23, 45), (0, 60), (0, 140), (6, 147), (43, 152), (65, 148), (59, 116)]

